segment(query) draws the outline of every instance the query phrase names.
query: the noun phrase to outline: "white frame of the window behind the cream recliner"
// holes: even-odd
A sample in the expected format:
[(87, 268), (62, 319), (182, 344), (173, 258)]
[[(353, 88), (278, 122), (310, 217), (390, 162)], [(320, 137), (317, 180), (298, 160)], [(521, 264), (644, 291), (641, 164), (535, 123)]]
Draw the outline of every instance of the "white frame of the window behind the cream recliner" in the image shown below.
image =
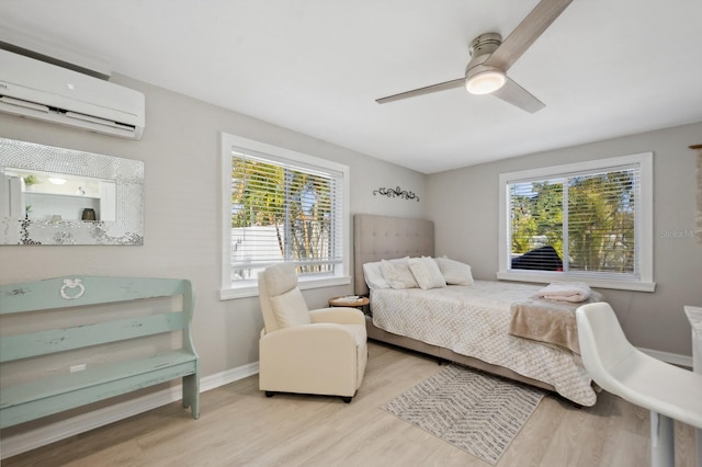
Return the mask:
[(339, 285), (348, 285), (351, 283), (350, 276), (350, 168), (348, 166), (297, 152), (291, 149), (281, 148), (253, 139), (244, 138), (228, 133), (220, 134), (220, 152), (222, 152), (222, 287), (219, 289), (219, 299), (235, 299), (244, 297), (258, 296), (257, 281), (231, 281), (231, 149), (239, 148), (249, 150), (260, 155), (270, 156), (272, 162), (297, 164), (299, 167), (314, 168), (321, 172), (341, 173), (341, 235), (342, 235), (342, 257), (343, 261), (333, 276), (324, 277), (299, 277), (298, 286), (301, 289), (331, 287)]

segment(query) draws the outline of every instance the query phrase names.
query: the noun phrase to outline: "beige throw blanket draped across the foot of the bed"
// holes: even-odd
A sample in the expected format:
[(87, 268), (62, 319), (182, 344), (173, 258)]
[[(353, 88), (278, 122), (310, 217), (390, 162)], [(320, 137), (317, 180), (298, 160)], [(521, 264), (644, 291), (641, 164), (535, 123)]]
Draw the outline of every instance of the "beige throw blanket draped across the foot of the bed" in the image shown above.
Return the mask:
[(530, 339), (567, 349), (580, 354), (575, 310), (585, 303), (600, 301), (602, 295), (591, 292), (590, 298), (582, 303), (551, 301), (531, 298), (511, 305), (512, 319), (509, 333), (518, 338)]

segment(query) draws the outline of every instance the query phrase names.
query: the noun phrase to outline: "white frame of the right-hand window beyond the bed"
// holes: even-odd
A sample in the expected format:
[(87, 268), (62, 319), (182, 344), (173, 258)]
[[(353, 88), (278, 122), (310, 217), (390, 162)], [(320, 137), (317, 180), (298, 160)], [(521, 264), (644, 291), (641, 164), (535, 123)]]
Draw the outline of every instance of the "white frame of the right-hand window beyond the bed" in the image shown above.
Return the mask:
[[(568, 176), (576, 173), (615, 170), (622, 166), (637, 166), (639, 169), (641, 202), (638, 207), (638, 277), (616, 273), (553, 272), (511, 270), (509, 244), (510, 225), (510, 183)], [(597, 159), (562, 166), (526, 169), (499, 174), (499, 266), (497, 278), (503, 281), (550, 283), (553, 281), (579, 281), (592, 287), (623, 291), (654, 292), (654, 183), (653, 152), (642, 152), (607, 159)]]

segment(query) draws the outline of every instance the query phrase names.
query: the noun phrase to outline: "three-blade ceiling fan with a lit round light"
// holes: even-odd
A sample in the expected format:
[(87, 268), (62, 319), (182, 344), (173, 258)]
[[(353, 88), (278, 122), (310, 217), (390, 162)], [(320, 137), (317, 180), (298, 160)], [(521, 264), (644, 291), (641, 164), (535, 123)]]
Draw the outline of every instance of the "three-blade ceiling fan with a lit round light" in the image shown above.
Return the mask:
[(546, 31), (573, 0), (541, 0), (512, 33), (502, 41), (498, 33), (486, 33), (471, 42), (471, 61), (463, 78), (427, 86), (377, 99), (385, 104), (400, 99), (416, 98), (431, 92), (465, 86), (472, 94), (492, 94), (505, 102), (534, 113), (545, 105), (507, 76), (507, 70)]

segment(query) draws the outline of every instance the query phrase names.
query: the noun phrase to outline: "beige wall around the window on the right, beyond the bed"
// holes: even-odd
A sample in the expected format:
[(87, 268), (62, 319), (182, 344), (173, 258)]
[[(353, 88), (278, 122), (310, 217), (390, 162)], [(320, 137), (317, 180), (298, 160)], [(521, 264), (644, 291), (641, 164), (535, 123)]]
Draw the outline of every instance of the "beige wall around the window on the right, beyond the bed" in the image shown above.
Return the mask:
[[(476, 278), (498, 270), (500, 172), (654, 152), (655, 293), (601, 291), (638, 346), (691, 355), (683, 305), (702, 306), (702, 244), (695, 241), (695, 152), (702, 123), (485, 163), (429, 175), (437, 254), (469, 263)], [(460, 210), (456, 210), (460, 207)]]

